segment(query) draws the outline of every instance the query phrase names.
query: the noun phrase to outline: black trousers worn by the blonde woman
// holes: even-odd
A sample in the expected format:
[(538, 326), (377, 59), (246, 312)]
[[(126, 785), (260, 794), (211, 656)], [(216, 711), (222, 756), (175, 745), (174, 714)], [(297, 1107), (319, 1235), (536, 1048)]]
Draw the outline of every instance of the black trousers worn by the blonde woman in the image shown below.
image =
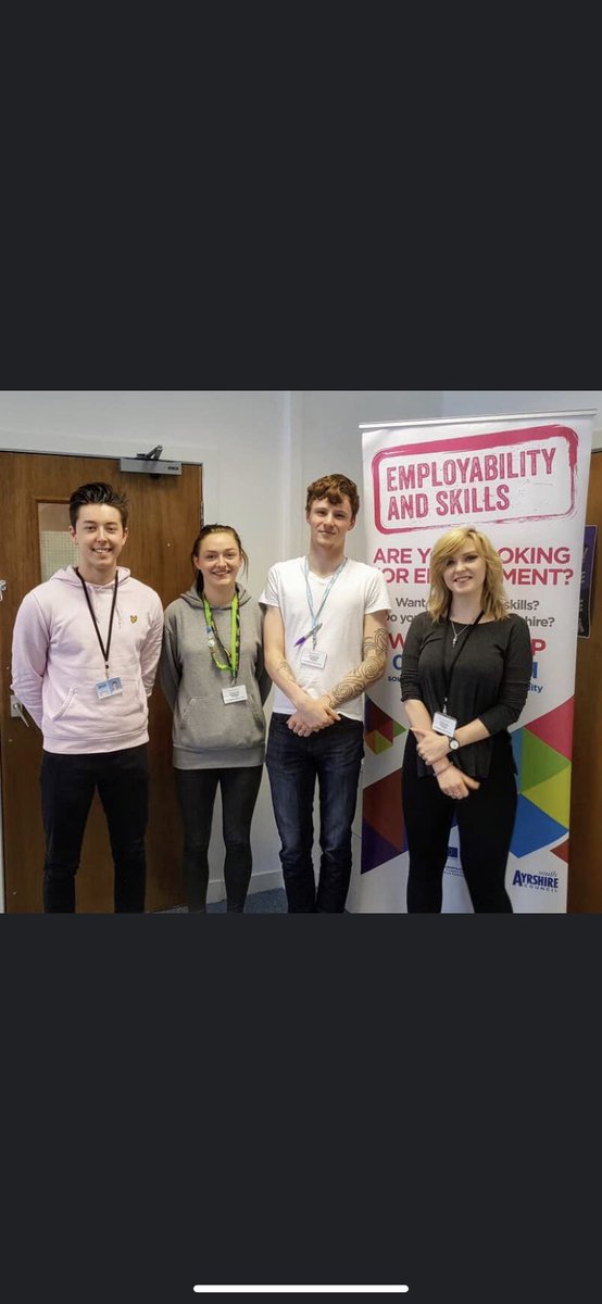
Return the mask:
[[(460, 768), (461, 768), (461, 752)], [(470, 797), (444, 797), (437, 778), (418, 778), (416, 738), (405, 745), (401, 773), (409, 846), (408, 913), (439, 913), (450, 829), (457, 818), (464, 878), (476, 913), (512, 914), (506, 866), (516, 818), (516, 778), (508, 734), (494, 738), (489, 778)]]

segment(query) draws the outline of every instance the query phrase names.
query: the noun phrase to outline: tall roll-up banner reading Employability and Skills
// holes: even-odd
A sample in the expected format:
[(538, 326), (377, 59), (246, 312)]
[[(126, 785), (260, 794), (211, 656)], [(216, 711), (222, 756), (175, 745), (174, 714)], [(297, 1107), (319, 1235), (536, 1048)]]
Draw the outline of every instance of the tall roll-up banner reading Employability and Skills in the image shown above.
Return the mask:
[[(474, 526), (491, 540), (509, 605), (532, 632), (529, 695), (511, 730), (519, 789), (506, 876), (512, 908), (523, 914), (567, 909), (575, 662), (594, 417), (551, 412), (360, 426), (365, 556), (387, 580), (392, 612), (387, 670), (366, 692), (356, 910), (405, 910), (401, 653), (409, 622), (426, 608), (433, 544), (455, 526)], [(472, 910), (456, 824), (443, 910)]]

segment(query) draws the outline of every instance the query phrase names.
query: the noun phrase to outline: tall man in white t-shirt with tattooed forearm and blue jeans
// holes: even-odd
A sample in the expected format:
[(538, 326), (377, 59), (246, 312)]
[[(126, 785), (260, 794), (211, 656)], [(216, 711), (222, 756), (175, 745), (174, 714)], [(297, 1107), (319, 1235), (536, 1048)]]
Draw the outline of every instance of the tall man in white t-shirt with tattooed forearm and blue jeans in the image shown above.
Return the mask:
[(364, 690), (384, 673), (391, 609), (380, 571), (345, 557), (358, 510), (348, 476), (314, 480), (306, 499), (309, 553), (272, 566), (259, 599), (266, 669), (276, 686), (266, 762), (291, 913), (340, 913), (349, 891)]

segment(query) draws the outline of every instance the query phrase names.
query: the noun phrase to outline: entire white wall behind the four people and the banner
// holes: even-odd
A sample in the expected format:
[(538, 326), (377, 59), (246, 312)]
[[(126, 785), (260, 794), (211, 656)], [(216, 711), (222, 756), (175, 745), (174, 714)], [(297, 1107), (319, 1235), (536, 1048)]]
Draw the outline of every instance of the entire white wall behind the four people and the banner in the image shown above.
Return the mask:
[[(236, 526), (258, 596), (272, 562), (305, 550), (305, 490), (334, 471), (362, 498), (360, 424), (442, 416), (597, 408), (602, 391), (440, 390), (156, 390), (0, 391), (0, 449), (133, 456), (163, 445), (163, 456), (202, 462), (205, 519)], [(364, 557), (362, 514), (349, 554)], [(358, 803), (360, 811), (360, 803)], [(216, 807), (215, 828), (220, 824)], [(358, 850), (358, 814), (354, 824)], [(253, 824), (253, 887), (280, 883), (267, 776)], [(357, 859), (357, 855), (356, 855)], [(211, 895), (220, 892), (222, 845), (211, 842)], [(357, 871), (354, 871), (354, 878)], [(353, 888), (349, 897), (353, 905)]]

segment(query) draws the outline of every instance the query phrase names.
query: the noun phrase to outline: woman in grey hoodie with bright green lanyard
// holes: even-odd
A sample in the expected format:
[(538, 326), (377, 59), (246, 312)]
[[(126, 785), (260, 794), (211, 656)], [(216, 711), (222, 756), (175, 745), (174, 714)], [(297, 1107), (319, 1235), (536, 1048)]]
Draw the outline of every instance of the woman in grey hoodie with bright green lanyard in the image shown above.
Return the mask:
[(184, 824), (189, 910), (206, 910), (208, 842), (218, 784), (228, 911), (242, 913), (251, 874), (250, 825), (263, 772), (262, 610), (236, 583), (248, 557), (232, 526), (194, 541), (195, 580), (165, 610), (159, 674), (173, 711), (173, 767)]

